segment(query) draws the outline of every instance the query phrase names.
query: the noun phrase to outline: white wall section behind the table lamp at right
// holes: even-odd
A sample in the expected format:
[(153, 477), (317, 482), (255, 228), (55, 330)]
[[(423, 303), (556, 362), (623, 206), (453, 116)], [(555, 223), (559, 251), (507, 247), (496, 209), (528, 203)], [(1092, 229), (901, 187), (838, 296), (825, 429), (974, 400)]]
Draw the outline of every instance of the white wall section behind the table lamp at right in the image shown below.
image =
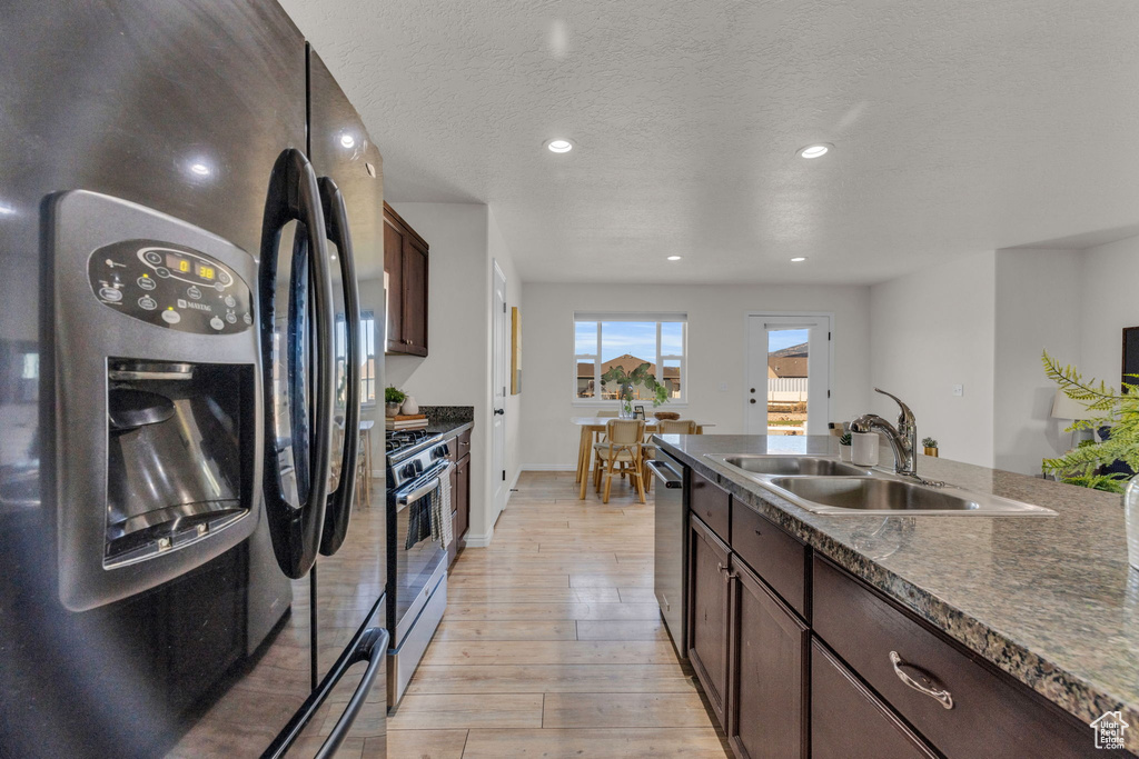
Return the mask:
[[(994, 329), (993, 465), (1039, 475), (1044, 457), (1072, 445), (1071, 423), (1051, 418), (1056, 385), (1044, 349), (1063, 363), (1082, 361), (1077, 250), (998, 250)], [(1116, 332), (1117, 333), (1117, 332)]]

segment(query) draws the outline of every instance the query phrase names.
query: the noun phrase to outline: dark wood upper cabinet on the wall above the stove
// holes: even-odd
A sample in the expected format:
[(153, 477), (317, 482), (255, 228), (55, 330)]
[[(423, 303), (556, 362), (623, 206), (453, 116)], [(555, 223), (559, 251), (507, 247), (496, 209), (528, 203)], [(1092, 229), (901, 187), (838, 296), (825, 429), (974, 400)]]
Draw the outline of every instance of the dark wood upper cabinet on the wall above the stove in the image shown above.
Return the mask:
[(427, 355), (427, 241), (384, 204), (387, 353)]

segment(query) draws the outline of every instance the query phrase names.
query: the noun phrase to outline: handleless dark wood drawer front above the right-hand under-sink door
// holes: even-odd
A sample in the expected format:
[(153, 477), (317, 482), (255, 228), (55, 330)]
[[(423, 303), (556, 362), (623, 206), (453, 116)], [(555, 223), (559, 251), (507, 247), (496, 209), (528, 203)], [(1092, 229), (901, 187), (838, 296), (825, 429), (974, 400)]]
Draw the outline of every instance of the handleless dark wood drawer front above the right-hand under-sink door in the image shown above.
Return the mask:
[(731, 510), (731, 550), (792, 609), (808, 619), (810, 551), (775, 522), (737, 503)]

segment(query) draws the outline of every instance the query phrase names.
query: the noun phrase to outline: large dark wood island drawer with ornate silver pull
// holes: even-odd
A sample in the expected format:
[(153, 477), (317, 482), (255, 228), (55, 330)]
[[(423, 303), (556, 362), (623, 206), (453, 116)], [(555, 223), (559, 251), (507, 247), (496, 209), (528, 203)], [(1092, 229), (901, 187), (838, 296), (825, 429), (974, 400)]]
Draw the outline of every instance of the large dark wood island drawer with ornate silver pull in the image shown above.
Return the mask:
[[(816, 634), (950, 759), (1090, 752), (1091, 731), (1077, 719), (818, 555), (812, 584)], [(907, 685), (891, 652), (898, 670), (948, 692), (952, 707)]]

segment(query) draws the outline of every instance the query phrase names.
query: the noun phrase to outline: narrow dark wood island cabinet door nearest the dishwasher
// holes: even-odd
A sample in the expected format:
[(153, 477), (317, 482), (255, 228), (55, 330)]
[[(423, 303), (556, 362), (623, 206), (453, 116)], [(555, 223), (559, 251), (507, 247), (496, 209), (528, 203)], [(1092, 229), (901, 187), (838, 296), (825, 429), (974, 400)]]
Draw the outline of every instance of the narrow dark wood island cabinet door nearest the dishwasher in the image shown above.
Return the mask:
[(728, 584), (731, 553), (695, 515), (689, 518), (688, 658), (721, 726), (727, 726)]

